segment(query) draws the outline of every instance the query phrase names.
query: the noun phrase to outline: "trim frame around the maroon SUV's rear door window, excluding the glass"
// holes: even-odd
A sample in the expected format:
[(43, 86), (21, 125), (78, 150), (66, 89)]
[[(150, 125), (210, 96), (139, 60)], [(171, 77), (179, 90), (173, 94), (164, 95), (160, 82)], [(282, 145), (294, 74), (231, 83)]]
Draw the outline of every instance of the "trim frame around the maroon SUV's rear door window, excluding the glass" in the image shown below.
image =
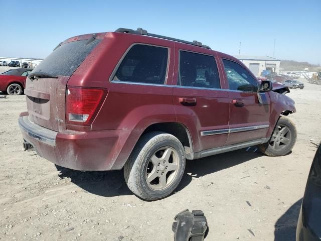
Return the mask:
[[(216, 65), (217, 73), (218, 73), (218, 76), (219, 76), (220, 88), (207, 88), (207, 87), (201, 87), (201, 86), (184, 86), (184, 85), (181, 85), (181, 52), (182, 51), (189, 52), (189, 53), (194, 53), (194, 54), (202, 54), (202, 55), (213, 57), (214, 58), (214, 65)], [(173, 87), (176, 87), (176, 88), (189, 88), (189, 89), (223, 90), (222, 82), (221, 82), (222, 81), (222, 76), (220, 74), (217, 56), (212, 55), (212, 54), (195, 52), (195, 51), (191, 51), (191, 50), (185, 50), (185, 49), (179, 49), (178, 53), (179, 53), (179, 59), (178, 59), (177, 83), (176, 83), (176, 85), (173, 85)]]

